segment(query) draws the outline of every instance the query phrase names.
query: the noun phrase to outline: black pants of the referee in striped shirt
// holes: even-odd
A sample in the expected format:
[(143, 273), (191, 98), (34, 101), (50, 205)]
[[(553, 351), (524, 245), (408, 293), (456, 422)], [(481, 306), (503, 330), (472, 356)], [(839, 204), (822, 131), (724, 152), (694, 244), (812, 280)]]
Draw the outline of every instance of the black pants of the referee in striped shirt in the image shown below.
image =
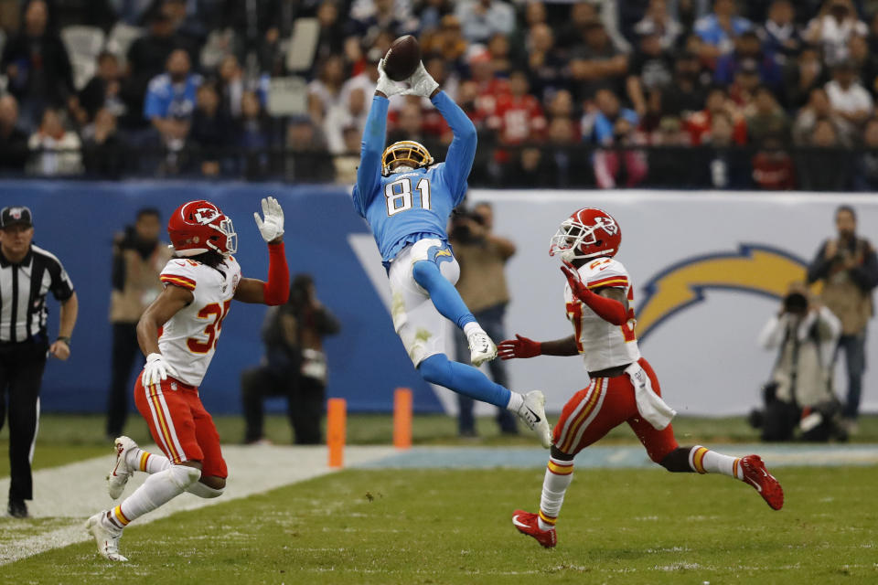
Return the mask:
[(9, 397), (9, 499), (33, 498), (30, 460), (37, 440), (39, 387), (48, 344), (23, 342), (0, 346), (0, 429)]

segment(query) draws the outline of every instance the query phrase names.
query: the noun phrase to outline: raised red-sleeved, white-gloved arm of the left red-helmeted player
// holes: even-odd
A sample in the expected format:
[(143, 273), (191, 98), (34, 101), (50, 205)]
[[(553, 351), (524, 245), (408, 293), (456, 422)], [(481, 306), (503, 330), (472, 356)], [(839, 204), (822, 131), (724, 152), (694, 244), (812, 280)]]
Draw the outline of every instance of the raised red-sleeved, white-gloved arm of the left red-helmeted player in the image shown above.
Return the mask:
[(284, 250), (284, 209), (274, 197), (262, 199), (262, 215), (253, 214), (262, 239), (268, 244), (268, 282), (254, 278), (242, 278), (235, 290), (234, 299), (241, 303), (278, 305), (286, 303), (290, 296), (290, 269), (286, 265)]

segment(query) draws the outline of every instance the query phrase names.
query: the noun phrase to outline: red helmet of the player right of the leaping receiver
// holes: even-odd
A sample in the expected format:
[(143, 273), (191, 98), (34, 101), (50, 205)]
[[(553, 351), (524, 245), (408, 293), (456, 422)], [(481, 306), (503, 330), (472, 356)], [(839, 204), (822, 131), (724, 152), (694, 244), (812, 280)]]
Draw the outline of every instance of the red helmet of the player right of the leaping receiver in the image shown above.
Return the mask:
[(603, 209), (583, 207), (562, 221), (551, 238), (549, 255), (561, 254), (565, 261), (612, 258), (621, 243), (622, 230), (613, 216)]

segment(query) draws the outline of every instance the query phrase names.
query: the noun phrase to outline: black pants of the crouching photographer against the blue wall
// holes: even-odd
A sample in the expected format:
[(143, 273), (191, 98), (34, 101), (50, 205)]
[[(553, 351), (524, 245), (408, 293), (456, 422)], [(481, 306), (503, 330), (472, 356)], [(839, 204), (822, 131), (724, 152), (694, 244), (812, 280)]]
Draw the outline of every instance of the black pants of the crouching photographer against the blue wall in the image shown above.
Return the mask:
[(297, 445), (316, 445), (322, 442), (320, 422), (324, 413), (324, 383), (316, 378), (293, 373), (289, 376), (270, 371), (267, 367), (253, 367), (241, 374), (241, 399), (247, 429), (244, 441), (262, 439), (262, 400), (272, 396), (287, 399), (287, 416), (293, 425)]

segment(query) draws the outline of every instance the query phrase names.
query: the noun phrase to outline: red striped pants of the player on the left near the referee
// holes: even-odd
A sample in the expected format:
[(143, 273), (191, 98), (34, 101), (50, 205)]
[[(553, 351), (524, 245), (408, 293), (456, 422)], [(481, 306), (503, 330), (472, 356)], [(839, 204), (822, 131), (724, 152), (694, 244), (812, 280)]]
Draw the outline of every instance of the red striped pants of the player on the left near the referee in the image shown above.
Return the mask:
[(172, 464), (198, 461), (205, 477), (228, 477), (219, 433), (198, 398), (198, 388), (175, 378), (144, 388), (138, 376), (134, 403), (149, 425), (153, 441)]

